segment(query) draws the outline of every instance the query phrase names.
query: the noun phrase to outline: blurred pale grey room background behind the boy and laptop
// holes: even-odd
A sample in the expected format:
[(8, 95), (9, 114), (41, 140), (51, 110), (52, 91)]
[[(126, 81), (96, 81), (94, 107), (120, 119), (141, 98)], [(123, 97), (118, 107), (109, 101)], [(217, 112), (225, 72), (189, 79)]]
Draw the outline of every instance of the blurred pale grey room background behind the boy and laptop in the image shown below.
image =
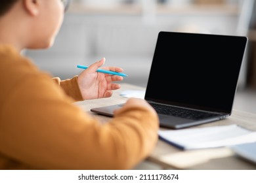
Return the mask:
[(255, 9), (253, 0), (73, 0), (54, 46), (25, 54), (61, 79), (105, 57), (129, 75), (123, 82), (146, 86), (159, 31), (244, 35), (238, 88), (256, 88)]

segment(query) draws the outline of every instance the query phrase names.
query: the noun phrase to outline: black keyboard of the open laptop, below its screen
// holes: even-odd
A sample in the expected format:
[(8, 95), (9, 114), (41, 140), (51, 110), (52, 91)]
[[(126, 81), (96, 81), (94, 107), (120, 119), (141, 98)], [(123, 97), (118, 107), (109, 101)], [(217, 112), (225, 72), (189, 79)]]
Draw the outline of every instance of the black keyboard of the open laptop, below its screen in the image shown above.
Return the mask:
[(210, 112), (202, 112), (198, 110), (190, 110), (186, 108), (172, 107), (168, 105), (159, 105), (157, 103), (150, 103), (156, 112), (159, 114), (167, 114), (171, 116), (187, 118), (191, 120), (200, 120), (203, 118), (209, 118), (213, 116), (219, 116), (219, 114), (213, 114)]

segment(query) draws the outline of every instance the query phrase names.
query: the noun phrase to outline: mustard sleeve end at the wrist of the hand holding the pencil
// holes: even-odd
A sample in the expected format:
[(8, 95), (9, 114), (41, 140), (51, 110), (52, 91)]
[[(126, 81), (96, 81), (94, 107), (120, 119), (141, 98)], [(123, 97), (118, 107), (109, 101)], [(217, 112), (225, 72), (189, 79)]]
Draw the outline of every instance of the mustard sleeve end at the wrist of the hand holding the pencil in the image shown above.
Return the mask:
[(83, 97), (77, 84), (77, 77), (78, 76), (74, 76), (74, 78), (66, 80), (60, 80), (60, 78), (56, 77), (53, 78), (53, 81), (58, 84), (62, 90), (64, 90), (64, 92), (68, 96), (72, 97), (75, 101), (83, 101)]

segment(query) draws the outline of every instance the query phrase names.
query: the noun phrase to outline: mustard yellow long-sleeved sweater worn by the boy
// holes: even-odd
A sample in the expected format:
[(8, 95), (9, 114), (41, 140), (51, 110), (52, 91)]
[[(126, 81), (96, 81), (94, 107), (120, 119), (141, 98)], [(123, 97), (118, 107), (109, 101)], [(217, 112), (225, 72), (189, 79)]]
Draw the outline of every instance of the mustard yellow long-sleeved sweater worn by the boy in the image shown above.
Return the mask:
[(75, 106), (77, 77), (60, 81), (0, 45), (0, 169), (132, 169), (152, 152), (158, 117), (129, 108), (100, 124)]

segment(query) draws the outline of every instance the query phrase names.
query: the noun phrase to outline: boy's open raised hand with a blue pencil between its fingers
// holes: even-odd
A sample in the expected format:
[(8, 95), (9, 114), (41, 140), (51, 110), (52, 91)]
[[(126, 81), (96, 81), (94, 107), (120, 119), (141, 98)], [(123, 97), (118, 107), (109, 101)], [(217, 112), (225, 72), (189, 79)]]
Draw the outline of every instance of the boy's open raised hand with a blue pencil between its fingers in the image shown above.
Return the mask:
[[(98, 73), (96, 70), (105, 62), (105, 58), (100, 59), (85, 69), (77, 78), (77, 83), (83, 99), (99, 99), (112, 96), (112, 90), (121, 88), (119, 84), (113, 83), (115, 81), (123, 80), (122, 76), (108, 75)], [(102, 67), (101, 69), (115, 72), (123, 72), (120, 67)]]

